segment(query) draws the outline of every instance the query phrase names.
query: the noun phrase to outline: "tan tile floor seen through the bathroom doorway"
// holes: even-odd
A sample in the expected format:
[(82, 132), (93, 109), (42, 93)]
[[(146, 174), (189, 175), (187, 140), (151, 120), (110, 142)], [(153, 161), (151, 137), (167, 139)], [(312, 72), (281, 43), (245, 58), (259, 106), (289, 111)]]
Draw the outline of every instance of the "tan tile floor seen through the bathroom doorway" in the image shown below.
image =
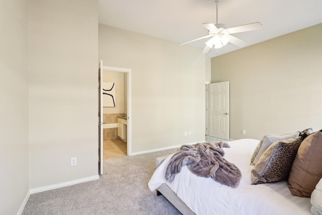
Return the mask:
[(104, 160), (125, 156), (127, 152), (126, 142), (121, 139), (111, 139), (103, 141)]

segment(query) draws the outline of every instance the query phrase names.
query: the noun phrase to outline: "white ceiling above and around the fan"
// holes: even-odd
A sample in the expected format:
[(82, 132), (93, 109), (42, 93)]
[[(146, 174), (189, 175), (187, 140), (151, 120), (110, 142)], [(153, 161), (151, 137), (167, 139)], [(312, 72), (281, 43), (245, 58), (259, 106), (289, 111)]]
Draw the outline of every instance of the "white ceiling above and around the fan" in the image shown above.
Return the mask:
[[(233, 36), (248, 45), (322, 23), (322, 0), (220, 0), (218, 23), (227, 28), (260, 22), (257, 31)], [(99, 0), (99, 23), (183, 43), (208, 34), (202, 23), (216, 23), (214, 0)], [(322, 36), (322, 35), (321, 35)], [(189, 43), (200, 52), (207, 39)], [(188, 44), (187, 44), (188, 45)], [(239, 47), (228, 43), (206, 55), (215, 57)]]

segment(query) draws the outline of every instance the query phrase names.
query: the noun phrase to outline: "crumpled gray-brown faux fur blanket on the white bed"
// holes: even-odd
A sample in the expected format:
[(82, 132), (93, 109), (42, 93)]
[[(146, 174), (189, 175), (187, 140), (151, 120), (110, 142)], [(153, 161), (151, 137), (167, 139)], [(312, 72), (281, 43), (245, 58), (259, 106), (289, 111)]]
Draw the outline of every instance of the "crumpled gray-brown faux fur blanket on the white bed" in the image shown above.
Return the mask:
[(241, 178), (240, 170), (223, 158), (223, 147), (230, 148), (227, 142), (202, 142), (183, 145), (171, 158), (166, 170), (166, 179), (172, 182), (181, 168), (188, 169), (201, 177), (211, 177), (221, 184), (237, 187)]

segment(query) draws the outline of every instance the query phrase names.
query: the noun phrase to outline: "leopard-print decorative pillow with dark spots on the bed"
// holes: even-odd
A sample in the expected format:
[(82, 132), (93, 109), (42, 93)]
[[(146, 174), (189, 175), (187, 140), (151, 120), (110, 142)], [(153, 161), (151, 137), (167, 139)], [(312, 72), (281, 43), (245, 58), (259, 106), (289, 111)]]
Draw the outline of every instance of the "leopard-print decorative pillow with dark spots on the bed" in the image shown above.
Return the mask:
[(251, 172), (252, 184), (283, 181), (288, 178), (302, 137), (274, 142), (263, 153)]

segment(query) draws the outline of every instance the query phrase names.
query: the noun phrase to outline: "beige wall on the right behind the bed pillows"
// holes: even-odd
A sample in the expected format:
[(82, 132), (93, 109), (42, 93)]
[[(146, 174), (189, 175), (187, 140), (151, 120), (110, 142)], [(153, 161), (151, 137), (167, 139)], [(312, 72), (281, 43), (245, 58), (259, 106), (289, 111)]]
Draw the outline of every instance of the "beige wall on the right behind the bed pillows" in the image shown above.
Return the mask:
[(231, 138), (321, 129), (321, 35), (319, 24), (212, 58), (212, 83), (230, 82)]

